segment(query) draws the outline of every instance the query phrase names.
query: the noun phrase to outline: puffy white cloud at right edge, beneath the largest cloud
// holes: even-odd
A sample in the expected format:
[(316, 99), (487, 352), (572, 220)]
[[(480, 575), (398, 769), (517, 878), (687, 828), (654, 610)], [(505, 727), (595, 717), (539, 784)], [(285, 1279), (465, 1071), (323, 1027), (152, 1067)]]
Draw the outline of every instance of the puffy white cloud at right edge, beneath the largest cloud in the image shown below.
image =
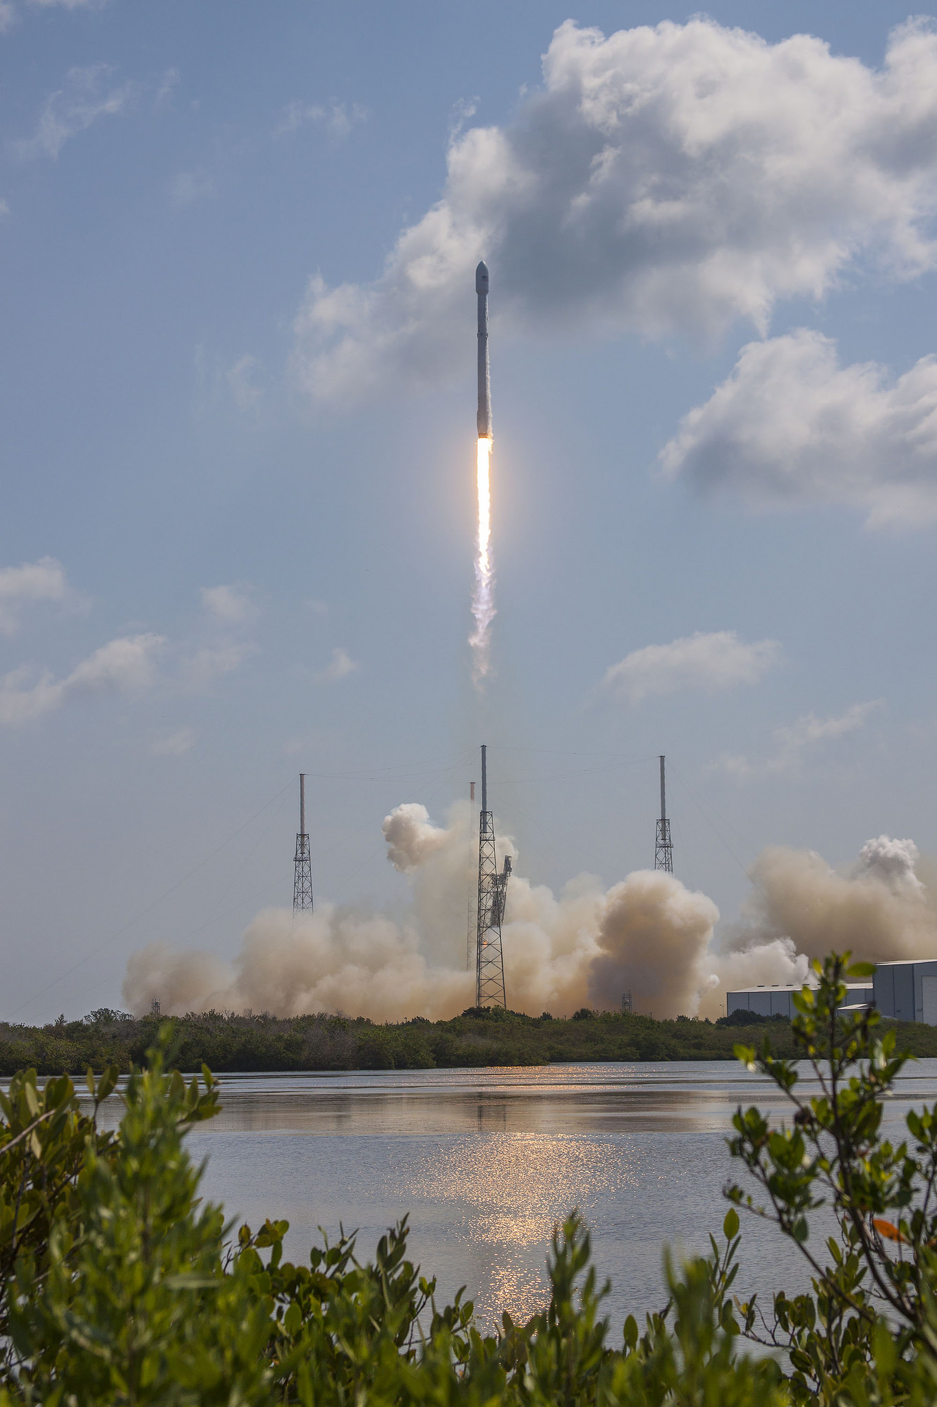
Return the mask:
[(937, 519), (937, 356), (889, 384), (875, 362), (840, 366), (801, 328), (743, 348), (660, 453), (669, 477), (739, 491), (756, 507), (848, 504), (870, 526)]

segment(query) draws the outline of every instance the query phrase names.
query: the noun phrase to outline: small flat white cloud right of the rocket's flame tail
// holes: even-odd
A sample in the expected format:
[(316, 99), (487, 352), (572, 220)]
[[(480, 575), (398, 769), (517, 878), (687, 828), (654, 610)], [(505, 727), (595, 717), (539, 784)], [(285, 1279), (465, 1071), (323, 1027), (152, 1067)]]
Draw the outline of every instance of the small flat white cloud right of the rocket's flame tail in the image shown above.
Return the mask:
[(735, 630), (697, 630), (670, 644), (646, 644), (642, 650), (632, 650), (611, 666), (603, 688), (629, 704), (679, 689), (716, 694), (736, 684), (757, 684), (780, 657), (777, 640), (746, 644)]

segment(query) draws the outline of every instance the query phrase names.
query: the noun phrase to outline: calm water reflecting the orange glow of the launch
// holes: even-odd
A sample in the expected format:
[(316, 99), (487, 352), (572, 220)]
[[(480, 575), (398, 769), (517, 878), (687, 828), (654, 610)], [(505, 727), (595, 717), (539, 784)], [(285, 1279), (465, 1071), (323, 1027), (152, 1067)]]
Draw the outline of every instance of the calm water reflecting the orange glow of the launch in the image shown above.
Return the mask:
[[(937, 1059), (900, 1081), (886, 1121), (937, 1099)], [(190, 1148), (207, 1158), (205, 1195), (251, 1227), (289, 1221), (303, 1262), (317, 1227), (358, 1230), (368, 1258), (410, 1216), (410, 1254), (438, 1294), (468, 1287), (486, 1324), (524, 1318), (545, 1299), (553, 1224), (579, 1207), (594, 1261), (612, 1280), (612, 1325), (666, 1300), (662, 1247), (705, 1252), (721, 1240), (726, 1150), (742, 1102), (784, 1110), (766, 1081), (723, 1061), (535, 1069), (222, 1076), (222, 1114)], [(753, 1189), (754, 1190), (754, 1189)], [(743, 1217), (736, 1290), (808, 1286), (798, 1252)]]

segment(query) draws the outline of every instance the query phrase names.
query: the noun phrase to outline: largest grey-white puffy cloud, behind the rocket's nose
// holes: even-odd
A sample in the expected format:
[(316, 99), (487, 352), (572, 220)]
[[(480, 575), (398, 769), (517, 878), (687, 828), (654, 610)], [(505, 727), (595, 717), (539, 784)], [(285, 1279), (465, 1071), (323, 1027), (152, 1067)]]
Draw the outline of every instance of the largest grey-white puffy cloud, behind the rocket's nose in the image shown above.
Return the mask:
[(372, 284), (310, 281), (295, 366), (322, 400), (464, 364), (472, 270), (503, 332), (764, 332), (861, 257), (936, 262), (937, 34), (909, 23), (881, 70), (808, 35), (767, 44), (708, 18), (604, 38), (572, 21), (507, 127), (448, 151), (443, 198)]

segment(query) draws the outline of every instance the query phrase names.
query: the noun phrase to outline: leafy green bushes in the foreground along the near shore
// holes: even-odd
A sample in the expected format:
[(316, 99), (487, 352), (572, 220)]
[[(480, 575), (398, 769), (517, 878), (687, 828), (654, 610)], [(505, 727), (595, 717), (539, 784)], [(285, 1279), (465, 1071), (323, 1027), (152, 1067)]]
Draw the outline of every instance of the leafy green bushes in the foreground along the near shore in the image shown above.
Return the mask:
[[(924, 1407), (937, 1397), (937, 1106), (907, 1116), (898, 1147), (882, 1104), (905, 1055), (878, 1013), (840, 1017), (833, 957), (797, 998), (795, 1052), (820, 1093), (801, 1099), (794, 1061), (738, 1048), (789, 1102), (770, 1127), (739, 1109), (729, 1148), (756, 1192), (732, 1206), (712, 1251), (680, 1269), (670, 1299), (612, 1334), (589, 1234), (572, 1213), (553, 1235), (549, 1304), (494, 1332), (462, 1292), (406, 1258), (406, 1221), (362, 1262), (353, 1237), (282, 1259), (285, 1221), (235, 1238), (198, 1197), (185, 1133), (218, 1110), (211, 1072), (164, 1074), (166, 1023), (119, 1096), (115, 1133), (97, 1110), (118, 1079), (89, 1072), (93, 1112), (67, 1076), (17, 1074), (0, 1096), (0, 1407)], [(590, 1019), (583, 1019), (589, 1024)], [(118, 1097), (118, 1096), (115, 1096)], [(832, 1204), (839, 1235), (811, 1240)], [(770, 1310), (732, 1296), (740, 1216), (767, 1217), (805, 1256), (812, 1292)], [(774, 1356), (752, 1356), (746, 1339)]]

